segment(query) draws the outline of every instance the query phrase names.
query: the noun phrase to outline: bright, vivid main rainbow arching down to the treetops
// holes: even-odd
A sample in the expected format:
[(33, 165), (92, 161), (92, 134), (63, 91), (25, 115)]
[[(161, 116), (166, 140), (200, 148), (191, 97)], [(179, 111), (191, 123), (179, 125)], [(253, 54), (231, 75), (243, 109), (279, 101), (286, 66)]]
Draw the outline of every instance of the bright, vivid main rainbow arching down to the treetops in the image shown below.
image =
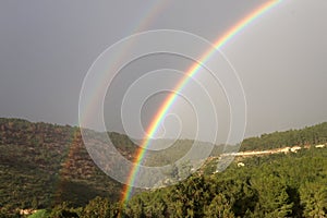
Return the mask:
[(187, 71), (186, 74), (183, 76), (183, 78), (174, 87), (174, 92), (172, 92), (164, 101), (160, 109), (156, 113), (155, 118), (150, 122), (146, 133), (147, 137), (144, 138), (142, 142), (140, 148), (136, 152), (136, 156), (134, 158), (132, 170), (128, 177), (126, 185), (122, 193), (122, 205), (125, 206), (126, 202), (129, 201), (131, 196), (131, 192), (133, 189), (133, 184), (135, 182), (136, 174), (138, 172), (138, 165), (142, 162), (144, 155), (146, 153), (146, 148), (149, 145), (150, 138), (156, 134), (156, 131), (158, 130), (158, 126), (161, 122), (161, 120), (165, 118), (165, 114), (170, 109), (174, 100), (177, 99), (177, 93), (179, 93), (189, 82), (189, 80), (194, 76), (201, 66), (210, 58), (210, 56), (217, 51), (217, 49), (220, 49), (225, 44), (227, 44), (233, 36), (235, 36), (238, 33), (240, 33), (242, 29), (244, 29), (250, 23), (252, 23), (254, 20), (259, 17), (262, 14), (267, 12), (272, 7), (277, 5), (281, 0), (274, 0), (268, 1), (254, 11), (252, 11), (249, 15), (246, 15), (244, 19), (242, 19), (239, 23), (237, 23), (234, 26), (232, 26), (228, 32), (223, 34), (222, 37), (219, 37), (219, 39), (214, 44), (214, 48), (206, 51), (202, 58), (199, 59), (198, 63), (194, 63)]

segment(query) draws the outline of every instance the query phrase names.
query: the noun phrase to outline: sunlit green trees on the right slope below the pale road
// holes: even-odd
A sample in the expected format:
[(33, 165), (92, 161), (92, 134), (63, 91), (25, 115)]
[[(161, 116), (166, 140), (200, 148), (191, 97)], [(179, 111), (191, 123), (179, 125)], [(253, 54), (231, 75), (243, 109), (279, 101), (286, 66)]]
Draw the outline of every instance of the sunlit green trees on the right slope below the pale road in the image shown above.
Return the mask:
[[(235, 159), (226, 171), (193, 175), (132, 197), (126, 217), (325, 217), (327, 149)], [(238, 167), (242, 160), (244, 167)]]

